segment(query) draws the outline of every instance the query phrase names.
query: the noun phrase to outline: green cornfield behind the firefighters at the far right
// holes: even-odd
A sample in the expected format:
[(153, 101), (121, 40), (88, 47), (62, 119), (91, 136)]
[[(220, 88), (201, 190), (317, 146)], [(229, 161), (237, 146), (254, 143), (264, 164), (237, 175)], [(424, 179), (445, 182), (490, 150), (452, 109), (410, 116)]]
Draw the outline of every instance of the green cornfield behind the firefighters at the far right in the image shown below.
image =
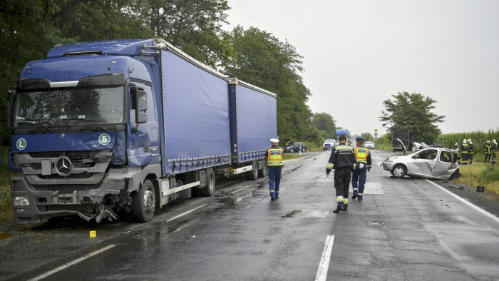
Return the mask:
[(483, 154), (483, 148), (485, 148), (487, 141), (499, 141), (499, 128), (495, 131), (489, 130), (488, 133), (476, 131), (471, 133), (448, 133), (439, 135), (436, 138), (435, 143), (443, 145), (446, 148), (453, 148), (456, 143), (461, 145), (463, 139), (471, 139), (473, 145), (475, 145), (475, 153)]

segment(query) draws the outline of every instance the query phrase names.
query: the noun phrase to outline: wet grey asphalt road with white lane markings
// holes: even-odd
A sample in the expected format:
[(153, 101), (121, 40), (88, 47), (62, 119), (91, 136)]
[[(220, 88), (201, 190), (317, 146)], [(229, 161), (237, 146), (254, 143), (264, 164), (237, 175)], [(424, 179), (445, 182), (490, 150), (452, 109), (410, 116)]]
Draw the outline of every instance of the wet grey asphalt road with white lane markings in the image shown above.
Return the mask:
[(275, 201), (267, 178), (235, 178), (150, 223), (16, 226), (0, 279), (499, 280), (499, 219), (442, 182), (392, 178), (379, 167), (390, 154), (372, 150), (364, 200), (339, 214), (319, 151), (286, 161)]

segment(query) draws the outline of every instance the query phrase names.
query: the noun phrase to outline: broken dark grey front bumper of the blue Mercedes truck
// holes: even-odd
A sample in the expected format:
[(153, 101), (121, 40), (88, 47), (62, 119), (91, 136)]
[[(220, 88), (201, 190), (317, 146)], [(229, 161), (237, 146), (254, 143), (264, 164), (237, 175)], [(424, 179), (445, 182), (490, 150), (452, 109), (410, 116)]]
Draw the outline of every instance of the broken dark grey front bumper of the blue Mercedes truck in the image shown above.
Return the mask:
[[(64, 215), (78, 215), (87, 221), (95, 219), (97, 223), (106, 218), (117, 220), (115, 210), (130, 208), (130, 192), (138, 186), (140, 172), (140, 168), (110, 169), (101, 183), (95, 185), (34, 185), (29, 175), (16, 172), (11, 178), (14, 223), (43, 223)], [(74, 181), (71, 179), (71, 183)], [(27, 205), (16, 205), (14, 198), (19, 197), (27, 198)]]

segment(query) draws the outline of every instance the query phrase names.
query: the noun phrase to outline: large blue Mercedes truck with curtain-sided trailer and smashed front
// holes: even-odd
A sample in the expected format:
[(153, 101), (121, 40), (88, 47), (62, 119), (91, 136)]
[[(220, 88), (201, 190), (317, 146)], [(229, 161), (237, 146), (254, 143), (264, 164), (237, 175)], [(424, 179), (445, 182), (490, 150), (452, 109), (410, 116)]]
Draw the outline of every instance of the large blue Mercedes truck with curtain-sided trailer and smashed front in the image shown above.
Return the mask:
[(276, 95), (163, 39), (59, 45), (9, 90), (14, 223), (148, 222), (217, 177), (267, 175)]

